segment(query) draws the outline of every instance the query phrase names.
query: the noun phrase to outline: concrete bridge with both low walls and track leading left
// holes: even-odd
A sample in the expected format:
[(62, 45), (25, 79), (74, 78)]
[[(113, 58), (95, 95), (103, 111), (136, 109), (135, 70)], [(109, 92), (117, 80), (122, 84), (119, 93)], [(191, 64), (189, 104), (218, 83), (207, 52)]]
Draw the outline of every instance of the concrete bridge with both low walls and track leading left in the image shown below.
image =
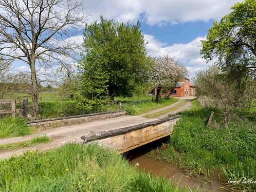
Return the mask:
[(20, 156), (27, 150), (44, 151), (57, 148), (68, 142), (99, 143), (122, 153), (171, 135), (179, 119), (179, 116), (161, 119), (127, 116), (122, 110), (28, 122), (35, 127), (36, 132), (23, 137), (0, 139), (0, 145), (24, 142), (39, 136), (48, 136), (51, 142), (11, 151), (2, 150), (0, 159)]

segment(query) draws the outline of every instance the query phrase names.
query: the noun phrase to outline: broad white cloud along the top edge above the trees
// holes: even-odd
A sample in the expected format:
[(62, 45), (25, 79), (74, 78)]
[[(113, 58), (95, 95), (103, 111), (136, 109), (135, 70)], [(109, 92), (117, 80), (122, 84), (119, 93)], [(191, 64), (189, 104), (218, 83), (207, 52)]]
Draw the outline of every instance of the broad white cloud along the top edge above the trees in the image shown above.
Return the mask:
[(143, 20), (149, 25), (162, 25), (219, 20), (237, 2), (241, 0), (95, 0), (84, 5), (91, 15), (89, 23), (103, 15), (122, 22)]

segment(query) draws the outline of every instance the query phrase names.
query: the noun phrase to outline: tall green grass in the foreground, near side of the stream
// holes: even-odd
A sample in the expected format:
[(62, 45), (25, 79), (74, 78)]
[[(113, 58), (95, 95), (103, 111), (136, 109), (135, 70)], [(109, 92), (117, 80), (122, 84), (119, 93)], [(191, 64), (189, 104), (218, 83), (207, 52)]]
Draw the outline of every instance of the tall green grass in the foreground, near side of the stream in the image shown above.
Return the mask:
[(66, 144), (0, 161), (1, 191), (185, 191), (97, 145)]

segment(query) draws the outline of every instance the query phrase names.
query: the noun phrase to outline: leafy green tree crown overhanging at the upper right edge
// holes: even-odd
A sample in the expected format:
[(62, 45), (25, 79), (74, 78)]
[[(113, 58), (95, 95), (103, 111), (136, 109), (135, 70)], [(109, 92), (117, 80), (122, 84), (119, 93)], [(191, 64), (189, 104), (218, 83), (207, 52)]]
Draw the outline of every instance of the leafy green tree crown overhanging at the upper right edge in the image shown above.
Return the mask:
[(244, 0), (231, 10), (213, 23), (200, 53), (207, 61), (217, 58), (216, 64), (239, 80), (256, 71), (256, 1)]

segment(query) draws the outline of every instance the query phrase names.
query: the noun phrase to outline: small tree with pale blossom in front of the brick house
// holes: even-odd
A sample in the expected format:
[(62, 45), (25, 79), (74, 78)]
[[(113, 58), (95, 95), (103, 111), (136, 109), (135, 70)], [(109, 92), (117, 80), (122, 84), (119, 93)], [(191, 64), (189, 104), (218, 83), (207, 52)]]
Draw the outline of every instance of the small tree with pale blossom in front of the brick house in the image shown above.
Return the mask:
[(152, 83), (157, 88), (156, 102), (160, 99), (161, 88), (167, 88), (172, 92), (177, 82), (187, 75), (185, 66), (179, 64), (174, 58), (168, 55), (155, 59)]

